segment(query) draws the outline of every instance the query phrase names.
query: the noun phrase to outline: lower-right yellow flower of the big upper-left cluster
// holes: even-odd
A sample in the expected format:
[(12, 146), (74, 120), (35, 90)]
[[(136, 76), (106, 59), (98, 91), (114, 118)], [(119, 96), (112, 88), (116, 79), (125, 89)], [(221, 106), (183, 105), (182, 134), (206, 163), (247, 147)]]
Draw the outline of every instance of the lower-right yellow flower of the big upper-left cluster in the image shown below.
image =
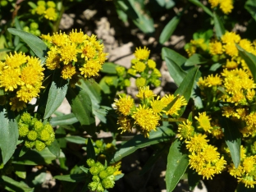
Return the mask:
[(90, 78), (92, 76), (98, 75), (98, 71), (102, 68), (102, 65), (97, 60), (89, 60), (81, 67), (81, 75), (84, 75), (85, 78)]

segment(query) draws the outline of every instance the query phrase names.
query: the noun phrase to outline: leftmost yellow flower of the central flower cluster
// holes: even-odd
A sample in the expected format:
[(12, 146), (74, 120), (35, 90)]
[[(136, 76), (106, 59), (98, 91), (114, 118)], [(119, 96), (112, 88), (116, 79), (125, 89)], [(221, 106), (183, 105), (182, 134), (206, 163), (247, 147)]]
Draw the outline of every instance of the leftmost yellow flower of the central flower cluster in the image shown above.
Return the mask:
[(121, 112), (124, 116), (128, 116), (130, 114), (130, 109), (135, 106), (135, 101), (130, 96), (115, 99), (115, 105), (117, 107), (117, 111)]

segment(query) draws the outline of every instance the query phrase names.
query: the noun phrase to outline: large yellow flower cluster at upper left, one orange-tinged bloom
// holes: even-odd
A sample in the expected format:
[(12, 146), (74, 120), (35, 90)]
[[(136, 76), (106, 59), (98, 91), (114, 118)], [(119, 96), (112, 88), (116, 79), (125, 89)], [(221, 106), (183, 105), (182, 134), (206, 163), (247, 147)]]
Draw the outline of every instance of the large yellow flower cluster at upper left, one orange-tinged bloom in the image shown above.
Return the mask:
[(60, 68), (62, 78), (71, 80), (71, 85), (80, 79), (80, 76), (91, 78), (98, 75), (106, 61), (107, 53), (103, 53), (103, 43), (96, 36), (88, 36), (81, 30), (72, 30), (70, 34), (56, 33), (52, 36), (42, 35), (50, 50), (45, 65), (49, 70)]

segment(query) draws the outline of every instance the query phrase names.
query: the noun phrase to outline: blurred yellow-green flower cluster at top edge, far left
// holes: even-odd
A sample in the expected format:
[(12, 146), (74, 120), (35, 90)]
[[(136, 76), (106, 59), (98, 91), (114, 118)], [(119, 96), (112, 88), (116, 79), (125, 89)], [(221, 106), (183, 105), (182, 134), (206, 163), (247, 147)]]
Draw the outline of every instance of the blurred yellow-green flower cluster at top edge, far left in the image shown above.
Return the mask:
[(43, 16), (47, 20), (56, 21), (57, 20), (57, 10), (56, 4), (53, 1), (38, 1), (37, 7), (32, 9), (32, 14), (37, 14), (39, 16)]

